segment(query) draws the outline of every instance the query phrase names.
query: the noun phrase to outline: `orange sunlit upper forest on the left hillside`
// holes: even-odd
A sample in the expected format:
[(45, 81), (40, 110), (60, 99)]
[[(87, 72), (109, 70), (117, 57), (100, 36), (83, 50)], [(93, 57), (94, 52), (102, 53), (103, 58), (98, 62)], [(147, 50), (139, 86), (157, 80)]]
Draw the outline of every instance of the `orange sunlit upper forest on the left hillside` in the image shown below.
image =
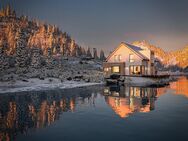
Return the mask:
[(17, 17), (9, 6), (0, 11), (0, 29), (1, 44), (6, 45), (8, 55), (15, 53), (16, 35), (20, 31), (24, 32), (25, 42), (29, 48), (39, 47), (44, 54), (48, 48), (53, 54), (60, 53), (66, 56), (85, 54), (84, 48), (55, 25), (29, 20), (27, 16)]

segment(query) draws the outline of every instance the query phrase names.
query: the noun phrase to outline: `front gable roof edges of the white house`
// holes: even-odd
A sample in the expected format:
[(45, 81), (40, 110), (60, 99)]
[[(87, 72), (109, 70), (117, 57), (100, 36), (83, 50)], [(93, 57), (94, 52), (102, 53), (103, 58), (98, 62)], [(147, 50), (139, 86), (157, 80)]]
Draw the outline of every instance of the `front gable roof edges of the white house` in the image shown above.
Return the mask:
[[(125, 42), (121, 42), (121, 44), (124, 45), (124, 47), (128, 47), (130, 50), (132, 50), (135, 54), (137, 54), (141, 59), (143, 60), (149, 60), (146, 56), (144, 56), (142, 53), (140, 53), (139, 51), (143, 50), (140, 47), (125, 43)], [(121, 44), (107, 57), (106, 60), (108, 60), (120, 47)]]

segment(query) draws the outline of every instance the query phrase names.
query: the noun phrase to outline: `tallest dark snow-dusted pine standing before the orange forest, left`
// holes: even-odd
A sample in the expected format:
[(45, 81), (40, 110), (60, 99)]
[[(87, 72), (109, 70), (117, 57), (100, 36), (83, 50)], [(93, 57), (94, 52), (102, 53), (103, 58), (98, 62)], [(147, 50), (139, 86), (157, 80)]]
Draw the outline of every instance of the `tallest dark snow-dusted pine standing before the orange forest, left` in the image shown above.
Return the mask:
[(16, 34), (16, 73), (27, 71), (28, 50), (27, 39), (23, 29), (19, 29)]

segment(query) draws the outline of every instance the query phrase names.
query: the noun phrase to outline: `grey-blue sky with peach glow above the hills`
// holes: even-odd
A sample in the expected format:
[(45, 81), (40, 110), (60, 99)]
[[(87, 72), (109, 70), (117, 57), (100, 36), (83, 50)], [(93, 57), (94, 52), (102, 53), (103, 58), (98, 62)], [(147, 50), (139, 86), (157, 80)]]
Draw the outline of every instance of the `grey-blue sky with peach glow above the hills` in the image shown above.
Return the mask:
[(146, 40), (165, 51), (188, 45), (188, 0), (0, 0), (0, 7), (8, 3), (106, 53), (122, 41)]

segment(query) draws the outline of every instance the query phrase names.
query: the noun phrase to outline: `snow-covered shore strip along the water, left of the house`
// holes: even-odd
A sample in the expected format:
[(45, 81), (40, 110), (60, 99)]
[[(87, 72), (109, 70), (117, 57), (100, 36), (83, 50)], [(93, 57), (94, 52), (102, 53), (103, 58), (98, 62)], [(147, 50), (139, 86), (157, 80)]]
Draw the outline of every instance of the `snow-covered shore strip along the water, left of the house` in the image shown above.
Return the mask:
[(102, 83), (86, 83), (83, 81), (63, 81), (56, 78), (46, 78), (45, 80), (40, 80), (38, 78), (30, 78), (25, 81), (9, 81), (0, 82), (0, 93), (14, 93), (23, 91), (40, 91), (40, 90), (50, 90), (50, 89), (67, 89), (84, 87), (91, 85), (99, 85)]

